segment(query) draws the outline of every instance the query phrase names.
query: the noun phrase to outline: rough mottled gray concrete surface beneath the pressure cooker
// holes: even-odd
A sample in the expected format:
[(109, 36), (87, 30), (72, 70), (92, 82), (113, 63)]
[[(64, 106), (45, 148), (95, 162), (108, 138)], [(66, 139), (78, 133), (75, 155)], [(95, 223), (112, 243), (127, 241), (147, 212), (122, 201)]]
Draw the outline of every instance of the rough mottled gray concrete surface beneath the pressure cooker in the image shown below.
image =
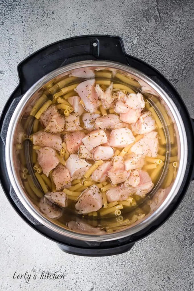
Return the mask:
[[(0, 110), (18, 84), (17, 64), (41, 47), (84, 34), (121, 36), (126, 51), (162, 72), (194, 118), (193, 0), (1, 0)], [(0, 191), (0, 290), (194, 290), (194, 184), (177, 211), (131, 251), (104, 258), (61, 252), (31, 229)], [(28, 283), (13, 279), (27, 270)], [(42, 271), (64, 274), (40, 280)]]

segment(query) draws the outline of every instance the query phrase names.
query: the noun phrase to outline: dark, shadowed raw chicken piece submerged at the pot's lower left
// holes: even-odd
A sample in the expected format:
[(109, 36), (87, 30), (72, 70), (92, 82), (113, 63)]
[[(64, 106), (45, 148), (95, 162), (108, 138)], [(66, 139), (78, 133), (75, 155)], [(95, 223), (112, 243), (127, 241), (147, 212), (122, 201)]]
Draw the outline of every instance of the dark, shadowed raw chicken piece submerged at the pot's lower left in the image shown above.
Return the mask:
[(61, 209), (47, 200), (45, 196), (40, 199), (39, 207), (40, 211), (51, 219), (59, 218), (62, 214)]

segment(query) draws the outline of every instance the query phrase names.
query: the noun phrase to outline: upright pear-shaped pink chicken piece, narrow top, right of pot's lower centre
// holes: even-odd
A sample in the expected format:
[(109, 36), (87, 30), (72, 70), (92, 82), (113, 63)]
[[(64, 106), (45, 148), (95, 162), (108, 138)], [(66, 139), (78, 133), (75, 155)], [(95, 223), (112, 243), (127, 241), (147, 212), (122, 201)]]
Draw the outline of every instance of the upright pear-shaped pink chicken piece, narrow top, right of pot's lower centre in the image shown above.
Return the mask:
[(121, 156), (113, 157), (113, 165), (108, 171), (108, 178), (112, 184), (124, 182), (130, 175), (130, 172), (125, 171), (124, 159)]

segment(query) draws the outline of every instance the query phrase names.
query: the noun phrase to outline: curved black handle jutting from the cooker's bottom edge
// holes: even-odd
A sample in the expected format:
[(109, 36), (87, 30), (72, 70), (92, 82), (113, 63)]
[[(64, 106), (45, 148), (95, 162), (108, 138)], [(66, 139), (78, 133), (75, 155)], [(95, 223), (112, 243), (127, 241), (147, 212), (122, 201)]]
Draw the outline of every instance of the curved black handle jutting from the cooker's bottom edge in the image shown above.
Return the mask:
[(64, 251), (65, 253), (72, 254), (72, 255), (81, 255), (81, 256), (87, 256), (87, 257), (102, 257), (102, 256), (119, 255), (119, 254), (125, 253), (129, 251), (134, 244), (133, 243), (124, 244), (124, 245), (110, 247), (106, 249), (80, 248), (80, 247), (67, 245), (67, 244), (57, 244), (57, 245), (62, 251)]

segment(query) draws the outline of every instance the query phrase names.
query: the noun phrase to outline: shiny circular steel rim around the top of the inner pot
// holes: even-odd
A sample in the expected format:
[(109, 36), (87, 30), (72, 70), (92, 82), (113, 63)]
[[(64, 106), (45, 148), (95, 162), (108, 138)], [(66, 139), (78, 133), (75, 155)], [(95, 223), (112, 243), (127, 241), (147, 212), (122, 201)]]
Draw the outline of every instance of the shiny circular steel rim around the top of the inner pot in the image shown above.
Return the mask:
[[(89, 234), (81, 234), (77, 232), (73, 232), (71, 230), (67, 230), (65, 228), (62, 228), (51, 221), (47, 220), (45, 217), (43, 217), (32, 205), (29, 199), (27, 199), (26, 195), (24, 194), (24, 191), (17, 180), (17, 175), (15, 172), (15, 168), (13, 165), (13, 137), (15, 128), (17, 126), (20, 114), (22, 113), (22, 110), (24, 106), (26, 105), (26, 102), (29, 101), (29, 99), (32, 97), (32, 95), (38, 91), (42, 86), (44, 86), (48, 81), (51, 79), (57, 77), (58, 75), (68, 72), (70, 70), (78, 69), (78, 68), (86, 68), (86, 67), (108, 67), (111, 69), (117, 69), (121, 70), (126, 73), (131, 73), (134, 75), (134, 77), (140, 78), (142, 81), (145, 81), (149, 86), (151, 86), (158, 94), (159, 96), (165, 101), (167, 106), (169, 107), (171, 113), (173, 114), (173, 117), (176, 121), (177, 129), (180, 136), (180, 145), (181, 145), (181, 153), (180, 153), (180, 160), (179, 160), (179, 169), (177, 171), (177, 176), (174, 181), (174, 184), (172, 186), (172, 189), (170, 190), (168, 196), (163, 201), (163, 203), (159, 206), (159, 208), (154, 211), (149, 217), (147, 217), (145, 220), (141, 221), (140, 223), (136, 224), (135, 226), (132, 226), (129, 229), (126, 230), (120, 230), (119, 232), (110, 233), (110, 234), (103, 234), (103, 235), (89, 235)], [(181, 183), (184, 177), (184, 173), (186, 170), (186, 164), (187, 164), (187, 138), (186, 138), (186, 131), (184, 128), (183, 120), (180, 116), (180, 113), (175, 105), (175, 103), (171, 100), (171, 98), (168, 96), (163, 89), (157, 85), (152, 79), (147, 77), (142, 72), (136, 70), (135, 68), (132, 68), (127, 65), (123, 65), (116, 62), (111, 61), (81, 61), (76, 62), (70, 65), (66, 65), (64, 67), (58, 68), (49, 74), (42, 77), (40, 80), (38, 80), (29, 90), (24, 94), (20, 102), (18, 103), (13, 116), (10, 120), (10, 124), (8, 127), (7, 137), (6, 137), (6, 150), (5, 150), (5, 158), (6, 158), (6, 167), (8, 170), (8, 175), (10, 178), (10, 182), (14, 188), (14, 191), (17, 194), (17, 197), (19, 198), (20, 202), (23, 204), (23, 206), (26, 208), (26, 210), (35, 218), (37, 219), (41, 224), (48, 227), (50, 230), (60, 234), (65, 235), (69, 238), (73, 239), (79, 239), (82, 241), (111, 241), (115, 239), (121, 239), (123, 237), (127, 237), (130, 235), (133, 235), (134, 233), (139, 232), (140, 230), (146, 228), (151, 223), (153, 223), (170, 205), (172, 200), (175, 198), (177, 192), (179, 191), (181, 187)]]

